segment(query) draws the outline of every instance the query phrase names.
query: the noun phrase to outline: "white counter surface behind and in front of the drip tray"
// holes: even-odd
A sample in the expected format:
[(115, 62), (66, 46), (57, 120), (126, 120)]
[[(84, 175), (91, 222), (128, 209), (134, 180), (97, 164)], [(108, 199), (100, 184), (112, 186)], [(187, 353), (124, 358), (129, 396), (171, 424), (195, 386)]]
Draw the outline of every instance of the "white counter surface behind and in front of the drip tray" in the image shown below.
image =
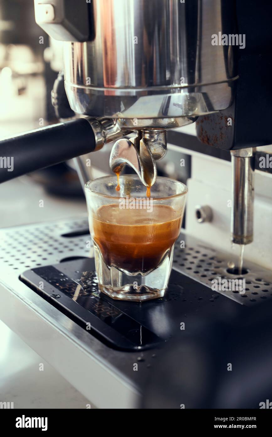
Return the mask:
[[(51, 197), (27, 177), (0, 184), (1, 228), (85, 214), (85, 201)], [(14, 402), (14, 409), (86, 408), (88, 399), (1, 321), (0, 339), (0, 402)]]

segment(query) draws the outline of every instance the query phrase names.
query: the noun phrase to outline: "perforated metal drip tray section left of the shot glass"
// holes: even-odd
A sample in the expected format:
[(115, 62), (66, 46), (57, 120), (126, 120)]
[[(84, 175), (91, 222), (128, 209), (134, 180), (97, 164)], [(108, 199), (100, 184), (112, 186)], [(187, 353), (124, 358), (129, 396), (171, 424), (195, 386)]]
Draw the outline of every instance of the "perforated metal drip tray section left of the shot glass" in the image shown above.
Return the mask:
[(0, 230), (0, 269), (19, 273), (90, 252), (88, 220), (45, 222)]

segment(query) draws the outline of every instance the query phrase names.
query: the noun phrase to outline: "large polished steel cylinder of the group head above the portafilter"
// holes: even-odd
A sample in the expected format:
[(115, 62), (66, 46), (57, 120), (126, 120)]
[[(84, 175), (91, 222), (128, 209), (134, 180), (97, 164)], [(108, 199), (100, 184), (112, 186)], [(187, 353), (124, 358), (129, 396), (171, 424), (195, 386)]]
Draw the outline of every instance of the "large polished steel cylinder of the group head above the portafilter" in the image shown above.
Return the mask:
[(95, 38), (64, 42), (71, 108), (134, 129), (174, 128), (227, 108), (234, 53), (211, 45), (211, 35), (235, 33), (234, 4), (225, 13), (219, 0), (94, 0)]

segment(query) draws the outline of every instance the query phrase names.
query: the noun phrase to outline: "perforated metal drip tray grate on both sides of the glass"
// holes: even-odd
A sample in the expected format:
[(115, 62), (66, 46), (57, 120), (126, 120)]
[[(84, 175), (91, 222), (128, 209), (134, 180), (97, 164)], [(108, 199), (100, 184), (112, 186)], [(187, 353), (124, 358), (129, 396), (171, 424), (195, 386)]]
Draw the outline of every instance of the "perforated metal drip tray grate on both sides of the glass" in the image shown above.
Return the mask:
[[(88, 220), (76, 219), (17, 226), (0, 230), (0, 278), (8, 283), (34, 267), (58, 264), (90, 255)], [(185, 249), (180, 249), (180, 240)], [(92, 249), (91, 249), (92, 251)], [(272, 298), (272, 271), (245, 261), (248, 273), (238, 276), (227, 271), (228, 253), (207, 247), (184, 234), (175, 244), (173, 268), (211, 288), (211, 281), (245, 278), (245, 293), (218, 291), (245, 305)]]

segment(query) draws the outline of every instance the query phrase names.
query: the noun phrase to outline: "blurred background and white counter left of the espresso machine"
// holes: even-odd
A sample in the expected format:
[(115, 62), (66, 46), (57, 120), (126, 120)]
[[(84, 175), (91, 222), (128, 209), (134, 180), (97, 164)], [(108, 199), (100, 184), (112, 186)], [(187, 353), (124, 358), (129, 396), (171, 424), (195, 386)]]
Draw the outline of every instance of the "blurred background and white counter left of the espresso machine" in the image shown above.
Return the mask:
[[(34, 1), (0, 0), (0, 139), (58, 121), (51, 90), (61, 68), (61, 43), (36, 24)], [(85, 215), (86, 207), (72, 163), (0, 184), (1, 228), (73, 214)], [(0, 402), (86, 408), (88, 400), (1, 321), (0, 338)], [(40, 363), (45, 371), (39, 371)]]

